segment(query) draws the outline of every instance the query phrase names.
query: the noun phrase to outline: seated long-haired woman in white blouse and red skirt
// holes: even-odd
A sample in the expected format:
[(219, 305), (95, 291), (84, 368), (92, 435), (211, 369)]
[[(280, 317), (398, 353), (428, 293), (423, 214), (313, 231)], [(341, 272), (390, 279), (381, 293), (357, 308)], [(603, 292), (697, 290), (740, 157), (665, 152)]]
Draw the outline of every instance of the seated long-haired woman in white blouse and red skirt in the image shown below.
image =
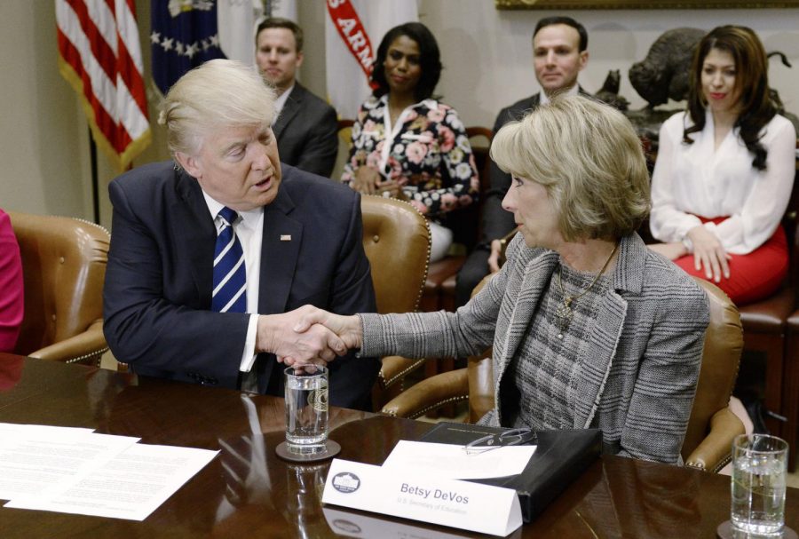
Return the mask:
[(787, 273), (779, 226), (795, 175), (794, 126), (769, 95), (768, 59), (749, 28), (711, 30), (697, 47), (687, 111), (661, 127), (652, 185), (653, 250), (714, 281), (738, 305)]

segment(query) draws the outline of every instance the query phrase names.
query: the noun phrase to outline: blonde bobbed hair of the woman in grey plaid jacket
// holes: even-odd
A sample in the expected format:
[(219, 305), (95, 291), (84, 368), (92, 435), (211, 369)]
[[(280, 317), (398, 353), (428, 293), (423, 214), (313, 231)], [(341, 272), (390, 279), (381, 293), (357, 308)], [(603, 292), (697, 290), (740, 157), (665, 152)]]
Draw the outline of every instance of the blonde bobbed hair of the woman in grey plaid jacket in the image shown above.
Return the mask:
[(580, 95), (559, 96), (494, 136), (491, 158), (541, 184), (567, 242), (617, 240), (649, 214), (641, 141), (618, 110)]

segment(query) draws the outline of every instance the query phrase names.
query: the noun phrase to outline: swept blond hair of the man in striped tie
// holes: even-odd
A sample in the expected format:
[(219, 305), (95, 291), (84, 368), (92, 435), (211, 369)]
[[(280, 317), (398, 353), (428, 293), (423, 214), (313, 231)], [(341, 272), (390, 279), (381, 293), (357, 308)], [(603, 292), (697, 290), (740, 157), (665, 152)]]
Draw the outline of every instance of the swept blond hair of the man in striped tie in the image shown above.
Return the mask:
[(174, 83), (163, 99), (158, 123), (167, 127), (167, 144), (194, 155), (202, 140), (219, 127), (272, 125), (275, 93), (255, 67), (231, 59), (211, 59)]

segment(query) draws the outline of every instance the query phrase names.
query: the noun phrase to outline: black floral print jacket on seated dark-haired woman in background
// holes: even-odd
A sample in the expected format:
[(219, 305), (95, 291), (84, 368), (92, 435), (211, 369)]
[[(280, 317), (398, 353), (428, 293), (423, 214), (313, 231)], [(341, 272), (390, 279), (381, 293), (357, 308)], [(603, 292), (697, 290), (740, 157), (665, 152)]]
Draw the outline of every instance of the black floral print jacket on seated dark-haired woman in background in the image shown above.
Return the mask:
[(344, 183), (366, 164), (384, 179), (396, 180), (407, 201), (428, 217), (477, 201), (477, 167), (454, 108), (424, 99), (402, 111), (397, 124), (391, 127), (388, 95), (360, 106)]

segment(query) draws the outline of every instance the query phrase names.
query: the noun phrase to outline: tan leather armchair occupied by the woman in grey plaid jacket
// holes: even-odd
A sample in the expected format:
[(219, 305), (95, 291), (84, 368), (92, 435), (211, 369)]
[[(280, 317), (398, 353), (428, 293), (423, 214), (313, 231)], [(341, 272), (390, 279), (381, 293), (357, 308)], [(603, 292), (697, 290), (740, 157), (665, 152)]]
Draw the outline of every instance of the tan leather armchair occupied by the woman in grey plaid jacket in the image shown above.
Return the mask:
[[(708, 294), (710, 323), (682, 455), (689, 466), (717, 472), (730, 461), (732, 439), (744, 432), (744, 425), (729, 408), (743, 339), (738, 309), (730, 298), (716, 285), (701, 279), (696, 281)], [(382, 412), (416, 418), (431, 408), (460, 400), (469, 401), (470, 423), (494, 408), (490, 351), (479, 358), (470, 358), (466, 369), (446, 372), (415, 384), (386, 404)]]

